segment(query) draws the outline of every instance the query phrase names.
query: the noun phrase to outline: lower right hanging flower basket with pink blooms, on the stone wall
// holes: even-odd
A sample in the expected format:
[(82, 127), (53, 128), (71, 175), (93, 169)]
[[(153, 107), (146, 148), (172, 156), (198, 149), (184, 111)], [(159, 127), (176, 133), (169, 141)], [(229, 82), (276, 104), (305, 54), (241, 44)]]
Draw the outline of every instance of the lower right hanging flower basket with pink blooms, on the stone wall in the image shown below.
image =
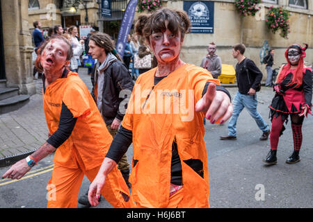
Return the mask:
[(266, 26), (274, 34), (280, 30), (280, 36), (288, 38), (289, 28), (289, 12), (282, 7), (274, 8), (271, 6), (266, 15)]

